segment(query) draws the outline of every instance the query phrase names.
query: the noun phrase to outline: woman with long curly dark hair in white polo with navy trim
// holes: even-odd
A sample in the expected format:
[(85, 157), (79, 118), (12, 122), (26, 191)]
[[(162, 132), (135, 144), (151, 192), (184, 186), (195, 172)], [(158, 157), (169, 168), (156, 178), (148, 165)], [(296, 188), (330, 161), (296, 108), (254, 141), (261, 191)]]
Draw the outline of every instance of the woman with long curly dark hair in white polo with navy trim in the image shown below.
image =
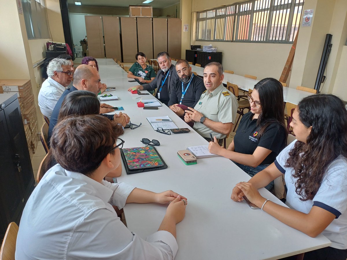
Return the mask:
[[(315, 237), (322, 233), (328, 248), (305, 253), (304, 259), (347, 258), (347, 111), (334, 95), (302, 99), (290, 123), (296, 135), (276, 161), (232, 190), (231, 199), (249, 201), (281, 222)], [(285, 174), (286, 204), (263, 198), (257, 189)]]

